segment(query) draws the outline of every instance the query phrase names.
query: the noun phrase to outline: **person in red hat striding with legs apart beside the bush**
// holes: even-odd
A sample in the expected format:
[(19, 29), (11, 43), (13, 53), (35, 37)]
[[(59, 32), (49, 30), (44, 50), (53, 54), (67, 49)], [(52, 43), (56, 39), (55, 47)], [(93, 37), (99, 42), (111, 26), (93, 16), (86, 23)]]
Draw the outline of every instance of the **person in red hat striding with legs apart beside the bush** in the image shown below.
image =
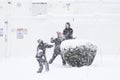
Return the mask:
[(62, 39), (62, 34), (60, 32), (57, 32), (57, 38), (53, 39), (51, 38), (51, 43), (54, 43), (55, 44), (55, 47), (54, 47), (54, 52), (53, 52), (53, 56), (52, 58), (49, 60), (49, 64), (52, 64), (52, 62), (54, 61), (54, 59), (60, 55), (61, 58), (62, 58), (62, 63), (63, 65), (66, 65), (66, 62), (63, 58), (63, 55), (61, 53), (61, 49), (60, 49), (60, 45), (61, 45), (61, 42), (63, 41)]

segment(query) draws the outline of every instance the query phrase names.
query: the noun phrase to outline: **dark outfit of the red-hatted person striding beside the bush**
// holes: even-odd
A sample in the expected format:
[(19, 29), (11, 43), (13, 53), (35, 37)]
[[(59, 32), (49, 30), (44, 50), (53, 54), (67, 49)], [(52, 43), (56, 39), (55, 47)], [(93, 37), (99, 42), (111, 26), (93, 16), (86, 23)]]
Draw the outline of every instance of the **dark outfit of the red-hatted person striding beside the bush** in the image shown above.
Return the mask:
[(60, 44), (62, 42), (62, 39), (60, 38), (55, 38), (54, 40), (51, 41), (52, 43), (55, 43), (55, 47), (54, 47), (54, 53), (53, 53), (53, 56), (52, 58), (50, 59), (49, 61), (49, 64), (51, 64), (53, 62), (53, 60), (58, 56), (60, 55), (61, 58), (62, 58), (62, 63), (63, 65), (66, 64), (65, 60), (63, 59), (63, 55), (61, 53), (61, 49), (60, 49)]

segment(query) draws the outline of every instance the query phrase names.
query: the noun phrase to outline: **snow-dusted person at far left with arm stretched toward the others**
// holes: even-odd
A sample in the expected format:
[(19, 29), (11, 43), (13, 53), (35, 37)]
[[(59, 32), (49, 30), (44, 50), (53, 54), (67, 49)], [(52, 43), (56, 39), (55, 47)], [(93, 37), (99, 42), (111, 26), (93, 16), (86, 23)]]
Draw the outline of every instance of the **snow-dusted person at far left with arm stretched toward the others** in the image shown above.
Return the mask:
[(46, 71), (49, 71), (49, 65), (46, 59), (46, 48), (51, 48), (53, 45), (49, 45), (47, 43), (44, 43), (43, 40), (38, 40), (38, 46), (37, 46), (37, 54), (36, 54), (36, 59), (39, 63), (39, 70), (37, 73), (41, 73), (43, 70), (43, 65), (45, 65)]

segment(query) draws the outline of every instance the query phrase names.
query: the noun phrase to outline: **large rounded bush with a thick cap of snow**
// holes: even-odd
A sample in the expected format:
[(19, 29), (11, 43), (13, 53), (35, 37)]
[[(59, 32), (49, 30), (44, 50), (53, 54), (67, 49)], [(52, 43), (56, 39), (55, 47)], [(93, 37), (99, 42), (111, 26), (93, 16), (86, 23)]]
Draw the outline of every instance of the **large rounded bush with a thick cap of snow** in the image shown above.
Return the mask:
[(81, 67), (92, 64), (97, 47), (87, 40), (72, 39), (62, 42), (61, 50), (69, 65)]

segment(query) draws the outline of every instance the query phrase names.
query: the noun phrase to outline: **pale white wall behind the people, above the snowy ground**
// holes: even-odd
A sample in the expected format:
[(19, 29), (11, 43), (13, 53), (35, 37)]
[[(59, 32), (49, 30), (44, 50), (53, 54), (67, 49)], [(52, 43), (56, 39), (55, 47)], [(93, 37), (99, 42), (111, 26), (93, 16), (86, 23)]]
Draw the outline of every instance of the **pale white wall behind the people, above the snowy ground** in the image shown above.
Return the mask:
[[(41, 38), (50, 42), (56, 32), (62, 32), (65, 23), (70, 22), (74, 36), (98, 43), (101, 54), (120, 52), (120, 1), (119, 0), (0, 0), (0, 27), (4, 34), (0, 37), (0, 55), (31, 56), (35, 54), (37, 42)], [(46, 2), (47, 12), (33, 15), (33, 4)], [(66, 6), (69, 4), (69, 7)], [(4, 22), (8, 21), (8, 24)], [(6, 26), (8, 31), (6, 32)], [(17, 28), (26, 28), (23, 39), (17, 39)], [(7, 52), (6, 49), (7, 48)]]

